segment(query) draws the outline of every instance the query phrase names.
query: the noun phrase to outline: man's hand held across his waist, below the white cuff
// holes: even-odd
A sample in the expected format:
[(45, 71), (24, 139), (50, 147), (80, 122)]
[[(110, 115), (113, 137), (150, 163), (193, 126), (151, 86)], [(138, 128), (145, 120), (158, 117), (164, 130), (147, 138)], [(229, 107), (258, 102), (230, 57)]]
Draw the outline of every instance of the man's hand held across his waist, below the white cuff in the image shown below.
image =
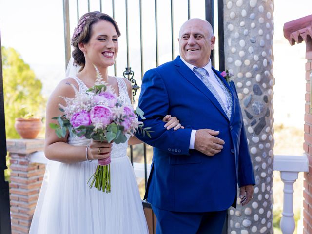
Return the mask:
[(211, 129), (199, 129), (195, 135), (195, 150), (201, 153), (214, 156), (223, 149), (224, 140), (215, 137), (219, 134), (219, 131)]

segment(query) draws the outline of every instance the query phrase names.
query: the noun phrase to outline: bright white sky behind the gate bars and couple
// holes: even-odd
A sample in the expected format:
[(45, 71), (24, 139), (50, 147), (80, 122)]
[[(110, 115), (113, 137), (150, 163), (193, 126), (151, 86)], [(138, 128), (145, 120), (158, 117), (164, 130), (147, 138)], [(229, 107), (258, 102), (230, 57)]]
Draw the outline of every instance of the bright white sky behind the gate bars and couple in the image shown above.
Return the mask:
[[(235, 0), (233, 0), (235, 2)], [(78, 0), (79, 15), (87, 12), (87, 0)], [(111, 0), (102, 0), (102, 11), (112, 15)], [(125, 0), (115, 0), (115, 19), (121, 30), (117, 76), (127, 66)], [(140, 35), (138, 3), (128, 0), (130, 67), (140, 85)], [(142, 0), (144, 71), (156, 66), (154, 0)], [(191, 0), (191, 18), (205, 17), (204, 0)], [(294, 4), (295, 2), (295, 4)], [(64, 78), (64, 26), (62, 0), (0, 0), (1, 43), (15, 48), (43, 82), (49, 96)], [(77, 23), (76, 0), (69, 0), (71, 34)], [(171, 60), (170, 0), (158, 0), (159, 64)], [(187, 0), (174, 0), (175, 56), (180, 25), (187, 20)], [(99, 10), (99, 0), (90, 0), (90, 10)], [(283, 36), (285, 22), (312, 14), (312, 0), (274, 1), (274, 119), (276, 123), (303, 128), (305, 104), (305, 43), (290, 46)], [(109, 74), (114, 74), (113, 68)]]

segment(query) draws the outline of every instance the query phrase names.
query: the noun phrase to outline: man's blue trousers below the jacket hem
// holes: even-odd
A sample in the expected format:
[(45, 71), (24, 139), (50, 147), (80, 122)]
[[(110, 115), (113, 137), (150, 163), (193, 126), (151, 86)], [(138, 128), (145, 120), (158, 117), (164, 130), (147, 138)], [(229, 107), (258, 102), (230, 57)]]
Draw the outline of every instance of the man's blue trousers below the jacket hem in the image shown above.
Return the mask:
[(152, 206), (157, 218), (156, 234), (221, 234), (227, 210), (172, 212)]

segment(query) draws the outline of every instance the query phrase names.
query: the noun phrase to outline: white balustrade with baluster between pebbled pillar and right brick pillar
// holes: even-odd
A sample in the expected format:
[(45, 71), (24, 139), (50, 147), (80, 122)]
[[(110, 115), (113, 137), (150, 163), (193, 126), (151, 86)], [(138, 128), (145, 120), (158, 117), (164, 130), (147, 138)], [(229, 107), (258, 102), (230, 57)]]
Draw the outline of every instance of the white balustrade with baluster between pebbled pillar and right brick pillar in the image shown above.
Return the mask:
[(293, 234), (295, 229), (293, 218), (293, 183), (297, 180), (299, 172), (309, 171), (308, 157), (306, 155), (275, 155), (273, 170), (280, 171), (281, 179), (284, 182), (283, 213), (280, 228), (283, 234)]

